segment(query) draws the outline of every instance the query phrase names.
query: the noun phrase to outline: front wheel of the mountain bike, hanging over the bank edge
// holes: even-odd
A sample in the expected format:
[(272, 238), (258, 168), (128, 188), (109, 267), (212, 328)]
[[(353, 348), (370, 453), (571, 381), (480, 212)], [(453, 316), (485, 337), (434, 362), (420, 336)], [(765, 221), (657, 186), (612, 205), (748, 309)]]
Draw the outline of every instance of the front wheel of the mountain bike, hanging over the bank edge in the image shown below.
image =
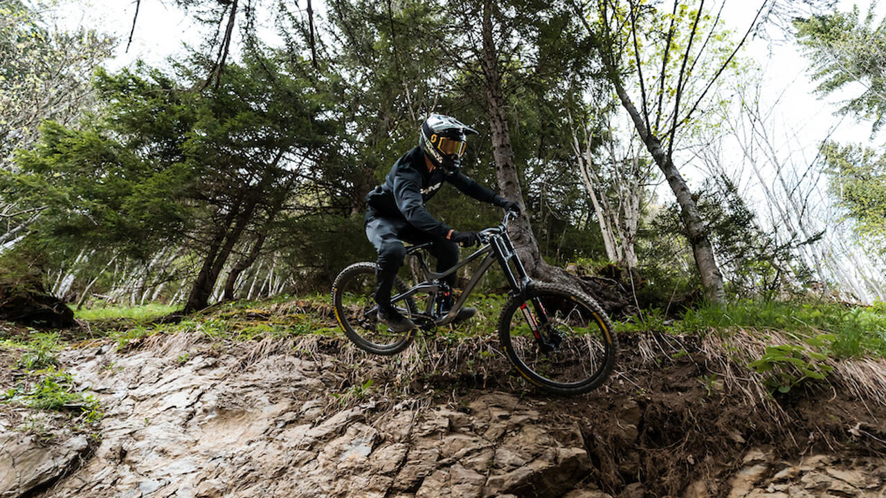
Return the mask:
[(520, 375), (557, 394), (587, 393), (602, 385), (618, 352), (600, 305), (558, 285), (535, 284), (511, 298), (501, 312), (499, 336)]

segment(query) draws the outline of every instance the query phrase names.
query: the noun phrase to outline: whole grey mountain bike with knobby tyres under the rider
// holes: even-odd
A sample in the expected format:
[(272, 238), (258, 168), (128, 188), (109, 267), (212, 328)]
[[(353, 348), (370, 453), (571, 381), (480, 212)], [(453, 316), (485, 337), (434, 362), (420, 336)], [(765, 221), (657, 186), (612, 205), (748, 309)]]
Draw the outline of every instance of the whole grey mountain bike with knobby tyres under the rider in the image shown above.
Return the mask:
[[(480, 248), (442, 273), (431, 271), (425, 261), (431, 243), (410, 246), (407, 257), (417, 260), (424, 281), (410, 287), (398, 277), (392, 305), (418, 329), (432, 333), (452, 322), (497, 261), (509, 285), (509, 300), (498, 325), (508, 360), (526, 380), (548, 392), (587, 393), (602, 385), (615, 365), (618, 342), (610, 319), (582, 292), (532, 281), (508, 235), (508, 222), (516, 216), (508, 212), (498, 226), (480, 231)], [(455, 305), (440, 316), (439, 297), (449, 291), (443, 278), (480, 258)], [(336, 319), (357, 347), (373, 354), (397, 354), (413, 341), (415, 329), (395, 332), (378, 320), (375, 268), (374, 262), (364, 261), (338, 274), (332, 284)]]

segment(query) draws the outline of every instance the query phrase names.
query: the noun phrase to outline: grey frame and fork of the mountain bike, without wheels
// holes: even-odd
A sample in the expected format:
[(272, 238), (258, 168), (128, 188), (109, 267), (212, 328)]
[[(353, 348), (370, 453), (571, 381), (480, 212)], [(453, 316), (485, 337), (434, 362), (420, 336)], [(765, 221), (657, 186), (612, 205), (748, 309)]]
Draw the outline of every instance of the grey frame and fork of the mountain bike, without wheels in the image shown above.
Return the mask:
[[(406, 292), (401, 292), (391, 298), (392, 301), (406, 299), (411, 297), (419, 292), (427, 292), (430, 299), (428, 300), (427, 308), (424, 312), (426, 318), (431, 318), (435, 324), (437, 325), (446, 325), (450, 323), (458, 312), (464, 307), (465, 302), (467, 302), (470, 293), (474, 291), (477, 287), (477, 284), (480, 281), (480, 278), (486, 274), (486, 270), (488, 270), (495, 261), (499, 262), (501, 266), (501, 271), (504, 272), (505, 278), (508, 280), (508, 284), (510, 286), (511, 295), (519, 295), (526, 291), (526, 288), (532, 284), (532, 279), (526, 273), (526, 268), (523, 266), (523, 262), (520, 261), (519, 256), (517, 255), (517, 251), (514, 249), (514, 245), (510, 241), (510, 237), (508, 235), (508, 221), (510, 214), (506, 214), (504, 220), (497, 227), (486, 229), (480, 232), (480, 237), (482, 239), (486, 239), (485, 245), (482, 245), (475, 253), (471, 254), (467, 258), (459, 261), (455, 264), (453, 268), (447, 269), (447, 271), (442, 273), (437, 273), (431, 271), (428, 268), (427, 263), (424, 261), (424, 256), (421, 253), (421, 250), (425, 247), (431, 245), (431, 243), (425, 243), (422, 245), (414, 245), (409, 247), (407, 250), (407, 254), (415, 257), (418, 260), (419, 266), (422, 268), (422, 272), (424, 273), (425, 281), (416, 284), (412, 288), (410, 288)], [(437, 300), (437, 293), (441, 287), (440, 280), (446, 276), (453, 275), (460, 268), (464, 267), (471, 261), (478, 260), (481, 256), (486, 255), (483, 261), (480, 262), (479, 267), (474, 271), (474, 274), (470, 277), (470, 281), (465, 286), (462, 291), (462, 295), (455, 302), (455, 305), (449, 310), (449, 313), (436, 320), (433, 318), (433, 307), (434, 303)], [(513, 264), (514, 269), (511, 269), (511, 264)], [(544, 310), (540, 308), (540, 303), (534, 303), (536, 306), (536, 312), (545, 317)], [(524, 313), (526, 310), (524, 309)], [(537, 329), (537, 323), (532, 318), (532, 315), (526, 315), (527, 321), (531, 320), (530, 326), (533, 328), (533, 332)], [(547, 322), (547, 320), (543, 320), (543, 322)], [(537, 335), (538, 338), (540, 336)]]

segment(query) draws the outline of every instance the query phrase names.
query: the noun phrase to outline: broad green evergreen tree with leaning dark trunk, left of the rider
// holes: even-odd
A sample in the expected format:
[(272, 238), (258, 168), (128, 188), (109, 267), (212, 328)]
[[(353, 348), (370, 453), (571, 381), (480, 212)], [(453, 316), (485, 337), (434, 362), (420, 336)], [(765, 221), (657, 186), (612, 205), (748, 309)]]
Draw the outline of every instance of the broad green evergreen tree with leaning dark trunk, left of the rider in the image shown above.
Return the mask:
[(47, 122), (5, 188), (46, 206), (35, 237), (48, 243), (140, 260), (167, 245), (189, 249), (198, 270), (187, 306), (205, 307), (235, 245), (315, 207), (309, 192), (293, 192), (316, 187), (335, 125), (319, 117), (307, 83), (274, 64), (229, 65), (205, 94), (187, 86), (185, 66), (180, 81), (144, 66), (99, 71), (104, 111), (82, 129)]

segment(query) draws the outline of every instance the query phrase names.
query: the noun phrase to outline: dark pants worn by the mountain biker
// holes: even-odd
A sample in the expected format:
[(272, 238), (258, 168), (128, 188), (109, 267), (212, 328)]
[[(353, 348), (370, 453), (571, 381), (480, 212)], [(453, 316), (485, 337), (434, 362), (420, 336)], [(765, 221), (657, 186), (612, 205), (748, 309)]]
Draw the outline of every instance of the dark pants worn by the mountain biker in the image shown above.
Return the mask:
[[(443, 272), (458, 262), (458, 245), (442, 237), (434, 237), (418, 230), (403, 218), (386, 217), (369, 209), (366, 213), (366, 237), (375, 245), (378, 253), (376, 261), (376, 302), (379, 307), (391, 306), (391, 288), (406, 248), (403, 241), (409, 244), (432, 242), (431, 255), (437, 259), (437, 271)], [(447, 276), (444, 282), (452, 287), (455, 284), (455, 273)]]

